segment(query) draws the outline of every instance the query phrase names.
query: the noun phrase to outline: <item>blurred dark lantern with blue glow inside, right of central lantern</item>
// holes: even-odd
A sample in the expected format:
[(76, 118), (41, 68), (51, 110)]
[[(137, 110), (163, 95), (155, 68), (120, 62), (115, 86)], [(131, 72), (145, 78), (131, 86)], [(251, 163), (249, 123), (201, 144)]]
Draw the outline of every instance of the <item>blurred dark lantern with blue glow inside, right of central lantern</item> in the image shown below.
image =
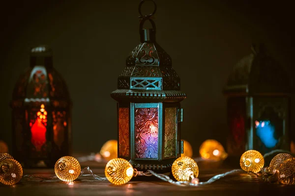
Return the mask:
[(288, 74), (263, 44), (234, 67), (224, 89), (227, 96), (228, 152), (241, 155), (255, 149), (290, 150), (290, 96)]

